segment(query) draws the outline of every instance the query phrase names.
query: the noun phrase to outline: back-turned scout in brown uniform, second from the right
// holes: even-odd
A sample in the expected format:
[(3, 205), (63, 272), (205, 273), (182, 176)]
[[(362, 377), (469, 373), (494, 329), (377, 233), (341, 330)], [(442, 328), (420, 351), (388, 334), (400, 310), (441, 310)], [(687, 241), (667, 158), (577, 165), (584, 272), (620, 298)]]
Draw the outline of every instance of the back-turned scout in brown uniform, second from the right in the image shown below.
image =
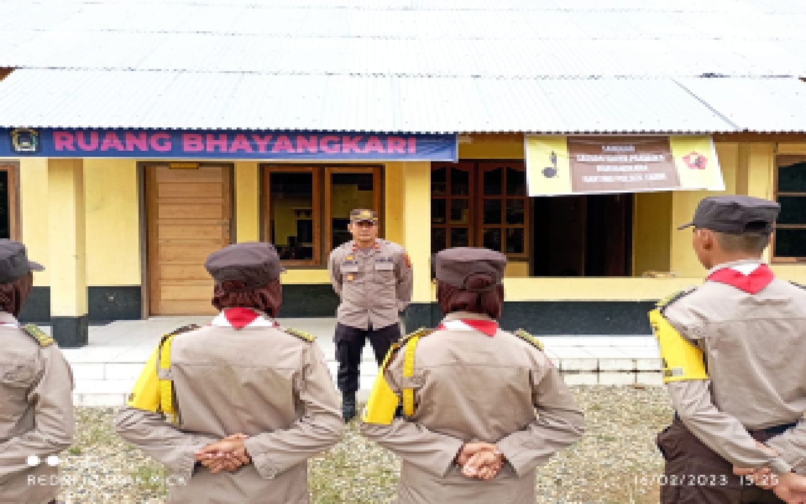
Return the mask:
[(376, 379), (361, 432), (401, 457), (401, 504), (534, 504), (538, 465), (583, 433), (538, 341), (498, 327), (505, 264), (485, 248), (439, 252), (445, 319), (406, 336)]

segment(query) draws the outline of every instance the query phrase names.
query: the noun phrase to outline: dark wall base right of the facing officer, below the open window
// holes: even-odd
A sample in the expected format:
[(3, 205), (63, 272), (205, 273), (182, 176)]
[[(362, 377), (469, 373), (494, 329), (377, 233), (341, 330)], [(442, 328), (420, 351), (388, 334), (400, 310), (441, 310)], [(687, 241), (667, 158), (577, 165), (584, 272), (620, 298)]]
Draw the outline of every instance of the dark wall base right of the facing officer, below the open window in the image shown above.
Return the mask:
[[(504, 303), (501, 327), (526, 329), (534, 335), (650, 335), (646, 313), (652, 301), (510, 301)], [(412, 303), (406, 309), (406, 331), (437, 327), (437, 303)]]

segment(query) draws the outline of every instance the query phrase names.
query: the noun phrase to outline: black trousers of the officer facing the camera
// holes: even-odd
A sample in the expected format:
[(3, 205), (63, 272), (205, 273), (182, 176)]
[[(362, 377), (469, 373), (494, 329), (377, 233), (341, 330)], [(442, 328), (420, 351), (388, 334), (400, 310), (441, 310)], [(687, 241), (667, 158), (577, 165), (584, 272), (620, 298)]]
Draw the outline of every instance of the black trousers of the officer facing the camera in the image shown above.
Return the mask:
[(375, 360), (380, 366), (389, 348), (400, 337), (401, 327), (397, 323), (380, 329), (357, 329), (341, 323), (336, 324), (336, 360), (339, 360), (336, 382), (339, 384), (339, 390), (342, 392), (358, 390), (361, 352), (364, 350), (367, 339), (372, 345)]

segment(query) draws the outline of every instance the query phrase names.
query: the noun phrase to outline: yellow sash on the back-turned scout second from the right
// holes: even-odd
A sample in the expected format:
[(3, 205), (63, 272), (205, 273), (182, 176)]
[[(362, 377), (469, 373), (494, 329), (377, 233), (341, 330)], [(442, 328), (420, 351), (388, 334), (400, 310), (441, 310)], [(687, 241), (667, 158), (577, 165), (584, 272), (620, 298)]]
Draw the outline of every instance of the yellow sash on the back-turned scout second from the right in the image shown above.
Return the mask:
[[(405, 354), (403, 356), (403, 377), (414, 376), (414, 355), (417, 351), (417, 343), (422, 336), (430, 335), (430, 329), (418, 329), (410, 335), (407, 335), (401, 344), (405, 346)], [(389, 425), (395, 418), (395, 411), (401, 402), (401, 398), (395, 394), (392, 387), (389, 386), (384, 376), (389, 360), (401, 348), (401, 344), (393, 344), (389, 348), (384, 363), (378, 369), (378, 376), (375, 378), (375, 383), (372, 385), (372, 392), (369, 394), (367, 406), (364, 407), (364, 414), (361, 420), (364, 423), (376, 423), (379, 425)], [(406, 416), (414, 414), (414, 389), (406, 387), (401, 390), (403, 396), (403, 413)]]

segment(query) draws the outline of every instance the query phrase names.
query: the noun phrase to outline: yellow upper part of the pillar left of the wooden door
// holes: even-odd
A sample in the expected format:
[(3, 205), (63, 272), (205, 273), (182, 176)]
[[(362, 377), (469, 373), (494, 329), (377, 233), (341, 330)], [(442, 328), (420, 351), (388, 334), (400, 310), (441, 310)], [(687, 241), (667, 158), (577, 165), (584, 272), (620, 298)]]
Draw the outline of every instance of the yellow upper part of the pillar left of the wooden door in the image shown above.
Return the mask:
[(87, 285), (140, 285), (137, 162), (84, 160)]

